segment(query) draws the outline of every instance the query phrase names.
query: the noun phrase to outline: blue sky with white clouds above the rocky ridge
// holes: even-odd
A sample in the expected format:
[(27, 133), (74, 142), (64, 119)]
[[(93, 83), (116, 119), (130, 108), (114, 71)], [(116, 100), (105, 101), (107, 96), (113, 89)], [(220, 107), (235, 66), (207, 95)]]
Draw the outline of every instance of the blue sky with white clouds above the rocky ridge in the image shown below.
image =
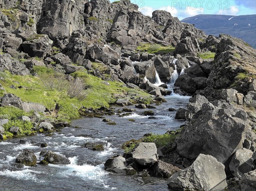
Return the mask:
[(165, 10), (180, 20), (198, 14), (256, 14), (256, 0), (131, 0), (139, 11), (152, 16), (155, 10)]

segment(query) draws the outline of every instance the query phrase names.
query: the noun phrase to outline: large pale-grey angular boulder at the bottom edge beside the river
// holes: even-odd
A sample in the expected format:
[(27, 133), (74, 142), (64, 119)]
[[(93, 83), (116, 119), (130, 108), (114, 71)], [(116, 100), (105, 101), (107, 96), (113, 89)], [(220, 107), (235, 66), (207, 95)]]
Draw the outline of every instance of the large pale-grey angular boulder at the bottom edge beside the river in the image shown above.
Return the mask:
[(225, 166), (200, 154), (191, 166), (173, 174), (167, 185), (173, 190), (221, 191), (227, 187)]

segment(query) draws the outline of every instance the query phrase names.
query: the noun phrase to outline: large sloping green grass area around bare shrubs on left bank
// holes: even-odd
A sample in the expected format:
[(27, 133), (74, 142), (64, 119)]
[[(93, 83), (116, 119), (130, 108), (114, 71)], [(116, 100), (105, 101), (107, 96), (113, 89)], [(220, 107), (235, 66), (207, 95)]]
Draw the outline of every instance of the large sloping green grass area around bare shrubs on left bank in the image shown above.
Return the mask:
[[(76, 97), (70, 98), (65, 88), (62, 90), (58, 90), (57, 88), (50, 89), (46, 88), (42, 83), (40, 76), (47, 77), (49, 75), (49, 77), (52, 77), (52, 72), (54, 71), (51, 68), (35, 66), (33, 69), (38, 73), (39, 77), (18, 76), (12, 75), (9, 72), (3, 72), (0, 76), (5, 80), (0, 80), (0, 83), (8, 93), (17, 95), (23, 101), (41, 103), (50, 110), (54, 110), (56, 103), (58, 103), (60, 109), (57, 114), (52, 112), (51, 117), (57, 117), (59, 120), (70, 120), (79, 117), (78, 110), (81, 106), (85, 106), (86, 108), (109, 107), (110, 103), (116, 101), (116, 97), (129, 95), (135, 99), (143, 97), (144, 103), (150, 103), (152, 101), (150, 95), (140, 89), (131, 89), (116, 81), (108, 81), (110, 85), (106, 86), (102, 83), (103, 80), (87, 74), (85, 70), (74, 72), (72, 75), (84, 80), (88, 93), (86, 98), (84, 100), (79, 100)], [(56, 80), (58, 79), (57, 76)], [(22, 88), (9, 88), (15, 81), (19, 82), (19, 86), (22, 86)], [(3, 92), (3, 90), (0, 90), (0, 96), (3, 95)]]

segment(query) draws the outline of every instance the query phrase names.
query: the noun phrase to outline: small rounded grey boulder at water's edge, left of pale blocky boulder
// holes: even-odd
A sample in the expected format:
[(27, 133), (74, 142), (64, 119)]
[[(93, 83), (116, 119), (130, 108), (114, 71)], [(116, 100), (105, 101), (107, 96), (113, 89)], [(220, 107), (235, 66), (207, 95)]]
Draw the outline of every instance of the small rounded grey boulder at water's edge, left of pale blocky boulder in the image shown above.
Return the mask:
[(124, 157), (115, 157), (108, 159), (105, 164), (104, 168), (106, 171), (112, 171), (115, 173), (124, 173), (125, 172), (125, 158)]

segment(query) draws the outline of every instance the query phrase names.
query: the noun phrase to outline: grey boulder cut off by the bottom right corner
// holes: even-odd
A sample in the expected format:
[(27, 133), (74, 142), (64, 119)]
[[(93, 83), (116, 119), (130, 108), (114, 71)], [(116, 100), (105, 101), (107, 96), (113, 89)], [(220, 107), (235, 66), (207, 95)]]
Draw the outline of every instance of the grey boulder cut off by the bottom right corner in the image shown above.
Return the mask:
[(255, 191), (256, 190), (256, 170), (250, 171), (242, 177), (240, 183), (241, 191)]

